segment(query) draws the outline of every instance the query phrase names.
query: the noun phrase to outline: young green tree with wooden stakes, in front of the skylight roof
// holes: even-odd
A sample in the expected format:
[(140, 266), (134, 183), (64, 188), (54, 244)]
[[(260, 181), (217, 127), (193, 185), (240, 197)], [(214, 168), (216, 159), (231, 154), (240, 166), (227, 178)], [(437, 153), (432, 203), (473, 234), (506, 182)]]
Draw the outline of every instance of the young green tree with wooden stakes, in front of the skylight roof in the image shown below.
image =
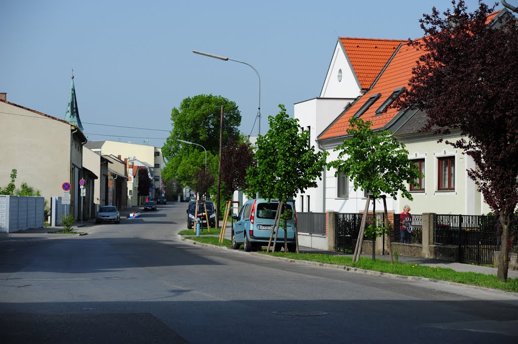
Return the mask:
[[(396, 199), (398, 192), (401, 192), (402, 197), (412, 200), (406, 184), (417, 186), (415, 180), (424, 175), (408, 159), (405, 145), (398, 142), (391, 131), (374, 131), (370, 128), (371, 125), (370, 121), (364, 122), (362, 118), (351, 117), (347, 129), (350, 138), (335, 148), (335, 152), (340, 152), (338, 159), (329, 162), (327, 169), (335, 168), (336, 175), (343, 172), (352, 180), (354, 190), (358, 188), (368, 190), (372, 194), (374, 204), (377, 198), (382, 197), (382, 193)], [(368, 203), (365, 209), (364, 219), (367, 217)], [(363, 237), (365, 220), (362, 220), (362, 227)], [(389, 252), (391, 263), (394, 263), (391, 236), (389, 235)], [(373, 236), (373, 243), (375, 238)]]

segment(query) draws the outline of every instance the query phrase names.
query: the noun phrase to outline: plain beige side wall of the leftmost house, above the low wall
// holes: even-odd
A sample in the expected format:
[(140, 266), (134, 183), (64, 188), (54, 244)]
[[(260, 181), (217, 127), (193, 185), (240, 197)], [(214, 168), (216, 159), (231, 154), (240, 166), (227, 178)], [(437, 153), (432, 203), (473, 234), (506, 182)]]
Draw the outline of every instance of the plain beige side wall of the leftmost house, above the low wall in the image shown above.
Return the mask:
[[(70, 124), (0, 101), (0, 185), (17, 169), (22, 182), (41, 190), (41, 196), (61, 196), (70, 182)], [(80, 154), (80, 149), (78, 154)], [(76, 159), (76, 153), (73, 154)], [(81, 166), (81, 161), (78, 161)]]

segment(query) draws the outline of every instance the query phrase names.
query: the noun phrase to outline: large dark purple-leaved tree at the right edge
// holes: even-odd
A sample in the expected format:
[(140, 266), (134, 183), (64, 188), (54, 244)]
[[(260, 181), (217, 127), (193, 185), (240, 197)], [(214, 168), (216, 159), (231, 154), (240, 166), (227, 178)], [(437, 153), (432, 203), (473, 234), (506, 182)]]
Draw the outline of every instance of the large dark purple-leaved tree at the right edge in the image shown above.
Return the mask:
[(506, 281), (518, 203), (518, 25), (509, 13), (488, 25), (494, 7), (482, 2), (473, 12), (464, 1), (452, 4), (443, 16), (434, 7), (420, 20), (427, 36), (410, 43), (425, 53), (395, 104), (425, 111), (423, 131), (461, 131), (462, 139), (446, 143), (475, 163), (468, 175), (501, 226), (498, 279)]

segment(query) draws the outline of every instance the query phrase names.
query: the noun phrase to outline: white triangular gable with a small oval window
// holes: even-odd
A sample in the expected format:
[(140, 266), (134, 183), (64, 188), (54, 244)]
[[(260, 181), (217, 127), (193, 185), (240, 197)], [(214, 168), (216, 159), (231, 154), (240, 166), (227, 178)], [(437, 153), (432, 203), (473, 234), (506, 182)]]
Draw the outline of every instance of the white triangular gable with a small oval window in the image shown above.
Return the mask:
[[(339, 75), (341, 74), (341, 78)], [(352, 69), (351, 62), (338, 40), (335, 53), (327, 70), (320, 98), (356, 98), (361, 93), (361, 86)]]

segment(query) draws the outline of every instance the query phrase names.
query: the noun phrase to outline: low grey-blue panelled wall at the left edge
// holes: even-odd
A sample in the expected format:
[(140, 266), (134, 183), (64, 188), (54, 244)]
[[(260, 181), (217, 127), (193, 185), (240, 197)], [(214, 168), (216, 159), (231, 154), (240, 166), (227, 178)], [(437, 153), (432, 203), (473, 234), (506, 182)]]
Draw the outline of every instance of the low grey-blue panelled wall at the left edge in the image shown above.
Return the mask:
[(0, 196), (0, 233), (43, 227), (45, 198)]

